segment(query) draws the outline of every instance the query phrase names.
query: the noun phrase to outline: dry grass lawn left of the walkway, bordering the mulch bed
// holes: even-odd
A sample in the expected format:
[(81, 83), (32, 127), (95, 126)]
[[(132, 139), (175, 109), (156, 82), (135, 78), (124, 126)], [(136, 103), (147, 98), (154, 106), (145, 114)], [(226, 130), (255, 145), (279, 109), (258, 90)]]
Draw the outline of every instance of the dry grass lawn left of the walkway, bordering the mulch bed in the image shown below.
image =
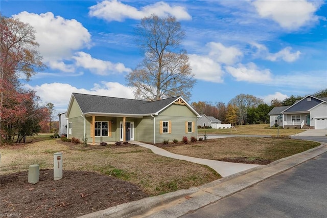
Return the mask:
[[(53, 168), (53, 154), (63, 152), (64, 170), (96, 171), (131, 182), (150, 195), (199, 186), (220, 175), (203, 165), (155, 155), (139, 146), (83, 146), (48, 140), (5, 146), (1, 149), (1, 174)], [(91, 181), (90, 181), (91, 183)]]

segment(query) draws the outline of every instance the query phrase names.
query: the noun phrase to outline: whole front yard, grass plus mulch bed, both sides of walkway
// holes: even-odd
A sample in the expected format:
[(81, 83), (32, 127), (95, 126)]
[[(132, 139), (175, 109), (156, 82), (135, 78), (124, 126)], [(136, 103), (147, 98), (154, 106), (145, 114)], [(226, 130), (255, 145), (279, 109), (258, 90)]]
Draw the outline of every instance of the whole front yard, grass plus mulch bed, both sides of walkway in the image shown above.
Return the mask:
[[(193, 157), (267, 164), (319, 143), (290, 139), (223, 138), (189, 144), (157, 145)], [(63, 152), (63, 178), (53, 180), (53, 154)], [(28, 167), (40, 165), (36, 184), (28, 183)], [(22, 217), (77, 217), (217, 180), (213, 169), (158, 156), (127, 144), (89, 145), (58, 139), (1, 147), (0, 211)]]

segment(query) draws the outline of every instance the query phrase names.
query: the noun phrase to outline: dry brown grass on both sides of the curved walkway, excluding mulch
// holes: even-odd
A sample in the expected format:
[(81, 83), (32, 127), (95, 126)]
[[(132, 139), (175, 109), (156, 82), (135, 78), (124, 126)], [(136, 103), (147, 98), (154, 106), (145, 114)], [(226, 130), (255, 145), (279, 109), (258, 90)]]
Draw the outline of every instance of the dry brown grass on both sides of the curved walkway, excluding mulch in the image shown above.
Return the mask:
[[(248, 157), (273, 161), (318, 145), (290, 139), (236, 137), (179, 143), (165, 148), (176, 154), (212, 160)], [(0, 174), (26, 171), (31, 164), (39, 164), (40, 169), (52, 169), (53, 154), (58, 151), (63, 152), (64, 170), (100, 172), (131, 182), (150, 195), (199, 186), (221, 178), (204, 165), (158, 156), (136, 145), (85, 147), (63, 143), (60, 139), (3, 146)]]

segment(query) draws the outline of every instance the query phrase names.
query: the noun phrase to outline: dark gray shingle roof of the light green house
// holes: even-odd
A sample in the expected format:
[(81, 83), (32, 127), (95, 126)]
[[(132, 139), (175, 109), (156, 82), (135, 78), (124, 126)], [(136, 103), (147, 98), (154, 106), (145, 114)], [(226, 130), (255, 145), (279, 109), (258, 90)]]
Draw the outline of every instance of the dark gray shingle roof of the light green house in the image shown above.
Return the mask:
[(143, 101), (126, 98), (115, 98), (98, 95), (73, 93), (83, 114), (154, 114), (174, 102), (179, 97), (172, 97), (158, 101)]

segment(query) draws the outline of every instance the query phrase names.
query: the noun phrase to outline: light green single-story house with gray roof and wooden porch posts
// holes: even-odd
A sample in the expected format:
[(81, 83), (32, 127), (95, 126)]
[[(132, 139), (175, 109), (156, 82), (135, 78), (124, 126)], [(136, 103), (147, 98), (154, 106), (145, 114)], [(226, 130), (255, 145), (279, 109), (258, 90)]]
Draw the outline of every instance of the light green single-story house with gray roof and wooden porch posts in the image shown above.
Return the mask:
[(67, 108), (67, 138), (88, 143), (161, 143), (197, 137), (200, 115), (182, 97), (143, 101), (73, 93)]

